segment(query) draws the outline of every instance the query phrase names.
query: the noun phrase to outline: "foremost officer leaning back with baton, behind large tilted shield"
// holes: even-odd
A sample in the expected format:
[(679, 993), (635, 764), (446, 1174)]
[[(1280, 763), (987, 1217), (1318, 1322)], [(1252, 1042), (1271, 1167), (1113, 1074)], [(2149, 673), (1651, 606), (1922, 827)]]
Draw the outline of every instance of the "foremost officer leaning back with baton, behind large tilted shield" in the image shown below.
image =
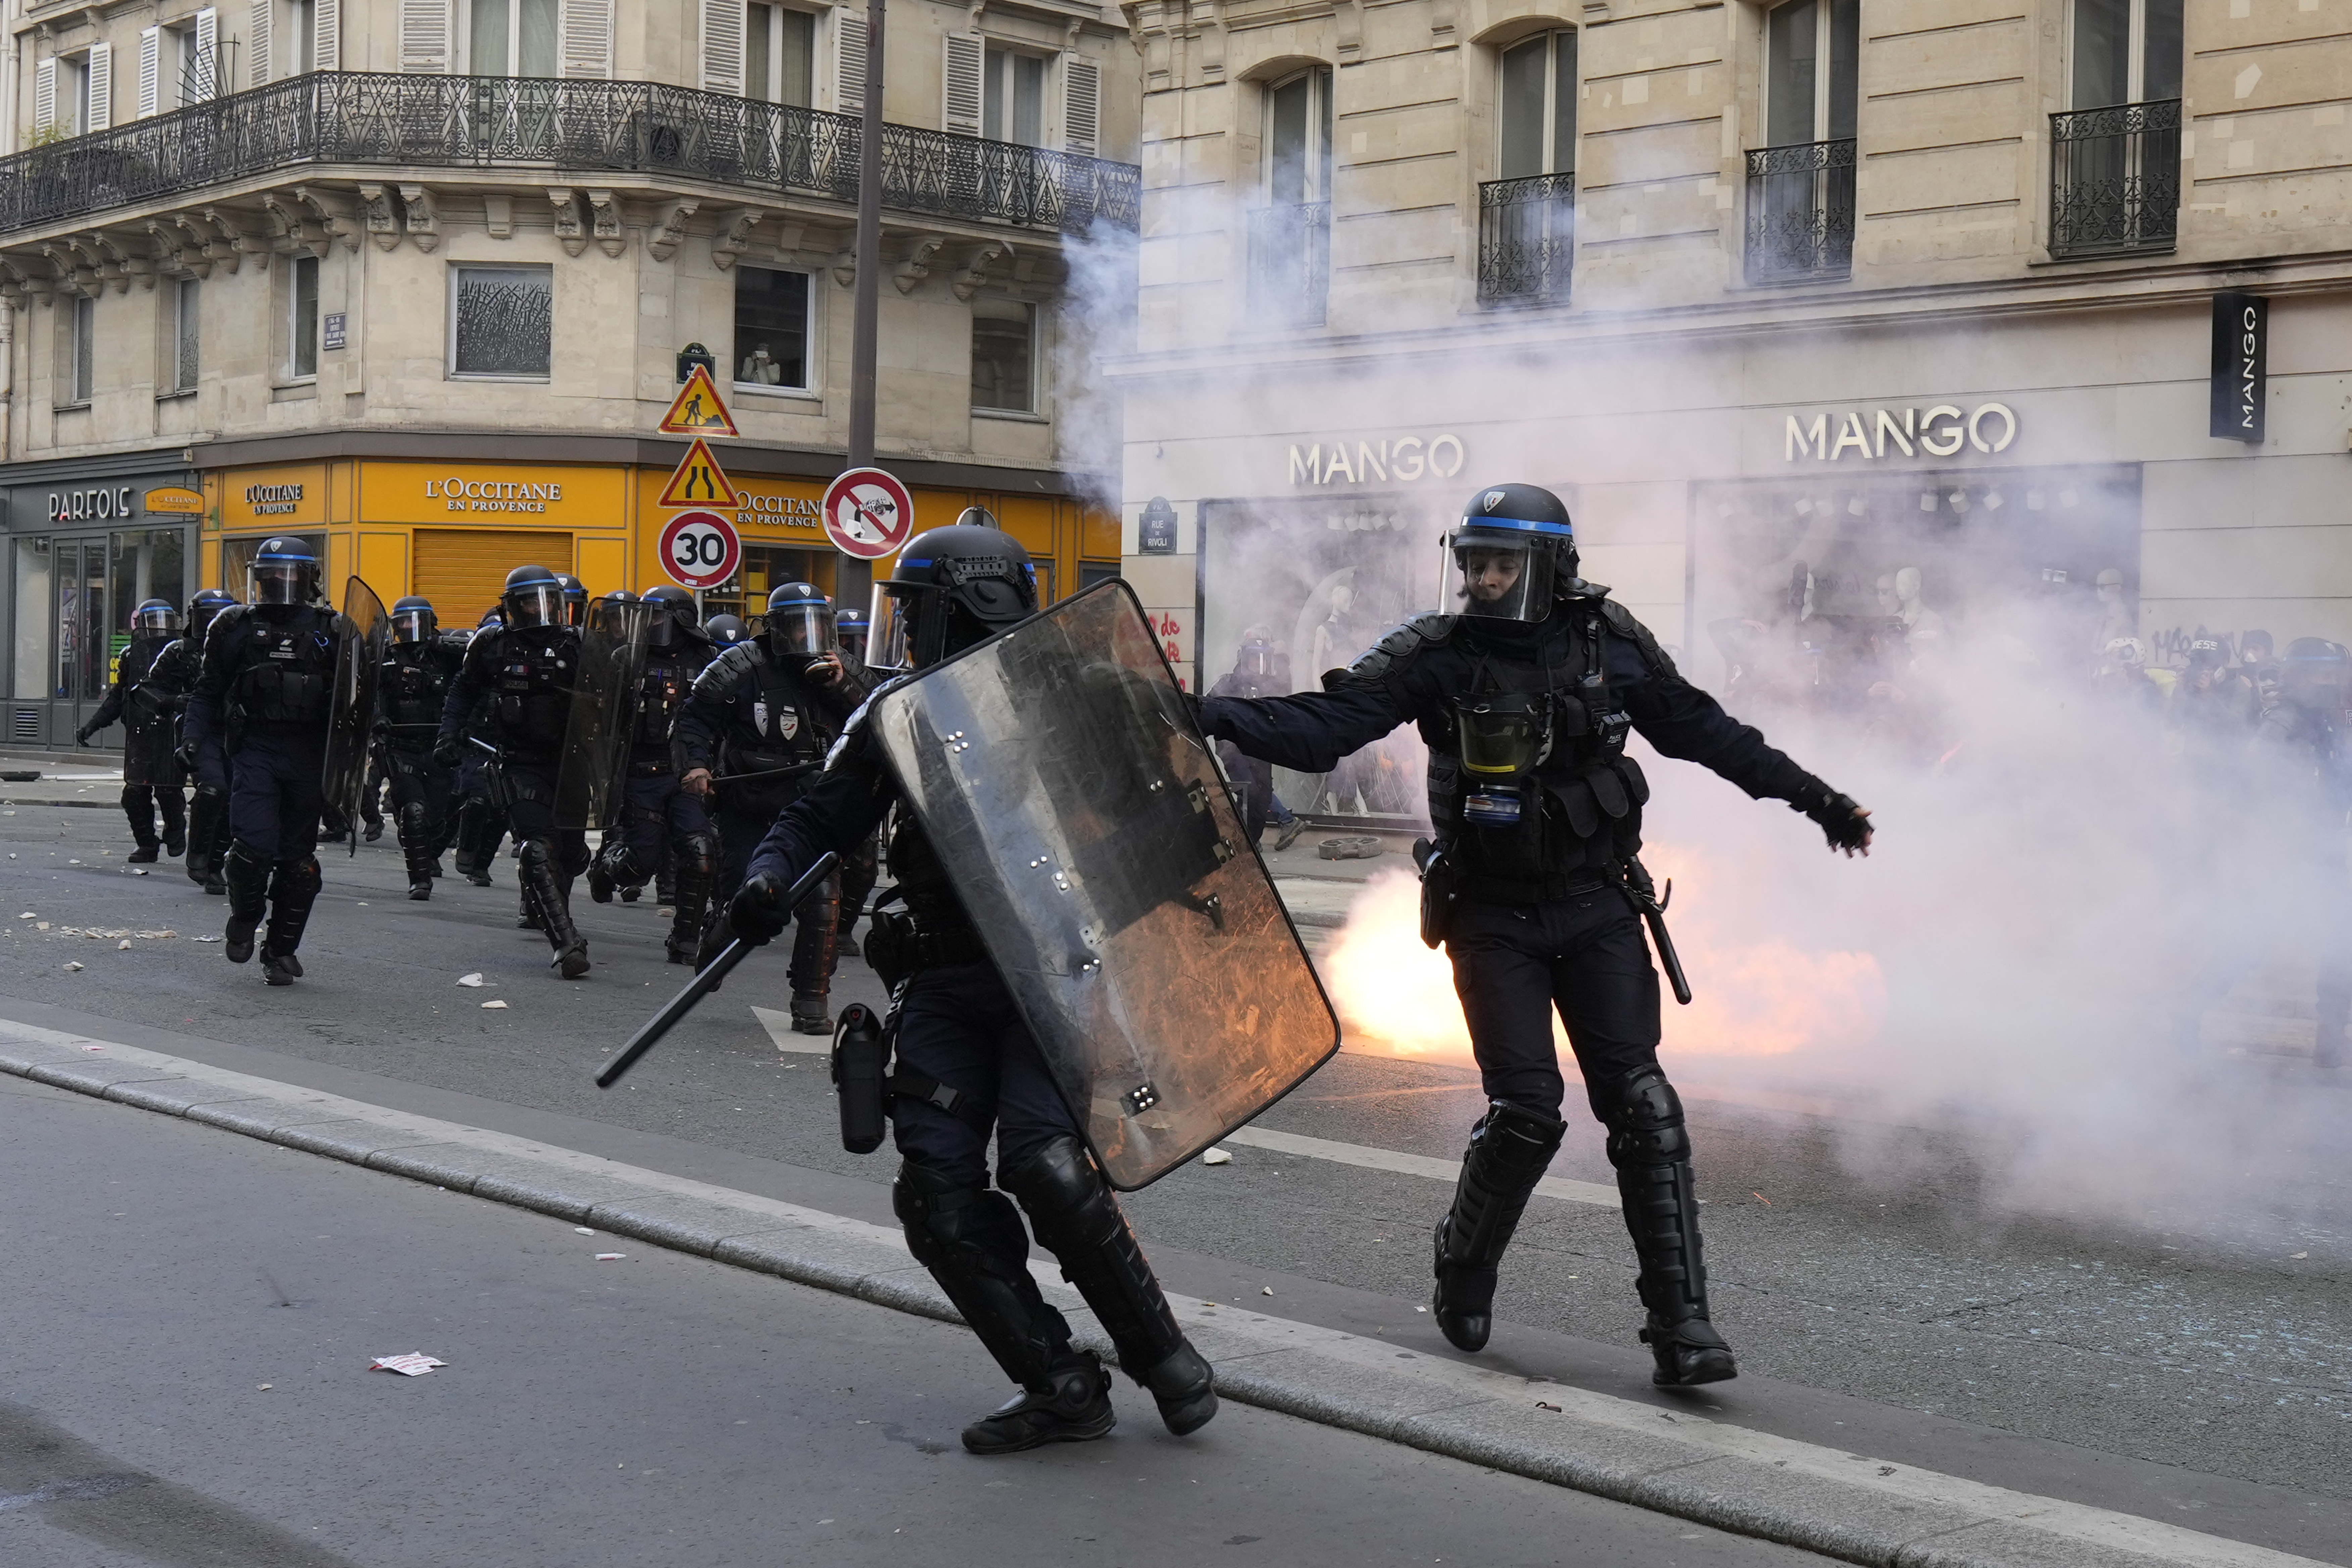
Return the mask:
[[(875, 588), (870, 661), (880, 670), (924, 668), (1037, 609), (1028, 552), (985, 527), (917, 534)], [(826, 771), (760, 844), (729, 922), (755, 940), (774, 938), (793, 919), (783, 896), (795, 875), (828, 849), (851, 853), (889, 818), (889, 875), (908, 910), (891, 919), (887, 959), (906, 971), (894, 985), (891, 1121), (903, 1164), (891, 1206), (908, 1251), (1021, 1385), (964, 1427), (964, 1448), (1016, 1453), (1103, 1436), (1112, 1425), (1110, 1375), (1070, 1347), (1070, 1326), (1040, 1295), (1007, 1192), (1110, 1333), (1120, 1366), (1152, 1392), (1169, 1432), (1195, 1432), (1216, 1415), (1209, 1363), (1176, 1326), (1004, 978), (913, 813), (891, 811), (896, 802), (861, 710)], [(990, 1128), (1002, 1192), (988, 1187)]]

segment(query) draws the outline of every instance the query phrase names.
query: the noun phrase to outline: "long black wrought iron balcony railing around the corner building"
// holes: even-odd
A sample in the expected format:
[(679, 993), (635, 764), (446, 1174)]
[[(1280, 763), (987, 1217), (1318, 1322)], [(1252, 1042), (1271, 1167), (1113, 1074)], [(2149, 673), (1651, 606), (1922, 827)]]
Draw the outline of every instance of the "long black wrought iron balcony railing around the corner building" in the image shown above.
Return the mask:
[[(856, 202), (856, 115), (661, 82), (320, 71), (0, 158), (0, 237), (289, 167), (670, 174)], [(882, 205), (1080, 233), (1136, 228), (1136, 165), (882, 127)]]

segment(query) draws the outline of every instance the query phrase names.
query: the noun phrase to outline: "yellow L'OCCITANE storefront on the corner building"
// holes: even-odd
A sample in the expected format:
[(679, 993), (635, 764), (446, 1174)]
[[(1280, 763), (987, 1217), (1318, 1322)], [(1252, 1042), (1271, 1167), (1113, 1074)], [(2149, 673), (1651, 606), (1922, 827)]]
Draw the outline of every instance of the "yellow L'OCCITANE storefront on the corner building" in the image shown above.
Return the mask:
[[(221, 468), (205, 477), (205, 585), (245, 595), (245, 564), (263, 538), (296, 534), (322, 550), (329, 597), (360, 576), (390, 604), (433, 599), (445, 625), (487, 611), (513, 567), (572, 571), (588, 592), (642, 592), (668, 576), (659, 538), (673, 510), (654, 505), (670, 473), (595, 463), (426, 463), (336, 458), (270, 468)], [(706, 614), (760, 614), (774, 583), (842, 585), (842, 557), (826, 543), (823, 480), (734, 475), (743, 567), (703, 595)], [(915, 529), (955, 522), (985, 505), (1037, 559), (1044, 599), (1120, 569), (1120, 522), (1065, 496), (915, 489)], [(851, 569), (858, 581), (863, 571)]]

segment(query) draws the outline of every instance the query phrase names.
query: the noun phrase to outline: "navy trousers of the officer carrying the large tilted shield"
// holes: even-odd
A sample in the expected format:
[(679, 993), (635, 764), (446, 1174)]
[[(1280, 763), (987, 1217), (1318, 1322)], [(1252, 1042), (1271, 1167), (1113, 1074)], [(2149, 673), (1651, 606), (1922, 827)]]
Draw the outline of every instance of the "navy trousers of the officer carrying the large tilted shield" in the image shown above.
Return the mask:
[[(898, 1065), (995, 1105), (997, 1168), (1075, 1135), (1054, 1074), (995, 964), (924, 969), (898, 1006)], [(957, 1187), (988, 1185), (988, 1133), (929, 1100), (891, 1100), (898, 1154)]]

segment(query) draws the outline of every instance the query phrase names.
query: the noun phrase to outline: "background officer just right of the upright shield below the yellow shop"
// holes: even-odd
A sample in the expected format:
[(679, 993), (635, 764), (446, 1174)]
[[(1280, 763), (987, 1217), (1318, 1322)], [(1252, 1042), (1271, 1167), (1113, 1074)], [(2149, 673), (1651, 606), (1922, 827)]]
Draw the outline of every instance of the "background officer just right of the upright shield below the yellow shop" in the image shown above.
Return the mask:
[(694, 621), (694, 595), (661, 585), (644, 590), (654, 614), (644, 623), (644, 672), (637, 679), (637, 733), (628, 745), (628, 783), (621, 823), (588, 867), (588, 896), (612, 903), (614, 889), (644, 886), (670, 856), (670, 936), (663, 947), (673, 964), (691, 964), (710, 910), (710, 879), (720, 870), (720, 835), (710, 825), (710, 802), (677, 783), (670, 726), (684, 708), (694, 677), (717, 658), (710, 637)]

